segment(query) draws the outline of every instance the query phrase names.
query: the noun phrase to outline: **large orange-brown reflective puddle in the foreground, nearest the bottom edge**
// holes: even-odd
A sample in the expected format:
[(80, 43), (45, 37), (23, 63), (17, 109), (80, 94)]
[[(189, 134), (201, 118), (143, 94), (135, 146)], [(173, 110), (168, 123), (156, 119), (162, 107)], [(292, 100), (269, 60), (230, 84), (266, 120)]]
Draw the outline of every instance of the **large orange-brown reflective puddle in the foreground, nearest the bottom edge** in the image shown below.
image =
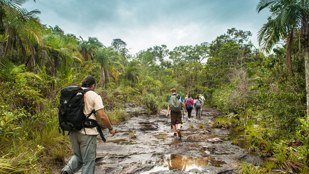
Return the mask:
[(176, 155), (176, 154), (169, 154), (169, 155), (162, 155), (161, 162), (159, 165), (151, 169), (150, 171), (143, 172), (140, 174), (149, 174), (151, 172), (158, 172), (161, 170), (181, 170), (188, 172), (194, 168), (203, 171), (203, 167), (209, 165), (215, 167), (222, 167), (222, 164), (227, 164), (223, 161), (214, 160), (214, 158), (208, 157), (197, 157), (193, 158), (191, 156), (184, 156), (184, 155)]

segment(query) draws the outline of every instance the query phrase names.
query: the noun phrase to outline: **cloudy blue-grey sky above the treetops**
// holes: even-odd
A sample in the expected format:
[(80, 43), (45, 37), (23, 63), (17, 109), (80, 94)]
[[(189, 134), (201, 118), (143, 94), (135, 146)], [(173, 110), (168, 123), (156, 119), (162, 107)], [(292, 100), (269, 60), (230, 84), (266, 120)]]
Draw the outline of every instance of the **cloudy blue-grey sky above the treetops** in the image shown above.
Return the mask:
[(39, 9), (43, 24), (65, 33), (97, 37), (105, 46), (112, 39), (127, 43), (131, 54), (155, 45), (169, 50), (180, 45), (211, 42), (235, 27), (257, 32), (270, 12), (256, 13), (259, 0), (36, 0), (22, 7)]

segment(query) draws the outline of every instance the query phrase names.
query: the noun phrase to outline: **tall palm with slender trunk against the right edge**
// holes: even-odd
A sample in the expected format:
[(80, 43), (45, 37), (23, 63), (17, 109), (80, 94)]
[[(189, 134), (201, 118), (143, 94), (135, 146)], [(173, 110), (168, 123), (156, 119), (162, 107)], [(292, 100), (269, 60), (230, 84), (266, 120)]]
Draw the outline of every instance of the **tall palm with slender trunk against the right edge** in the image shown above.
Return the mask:
[[(308, 52), (308, 24), (309, 1), (308, 0), (260, 0), (256, 11), (260, 12), (269, 8), (273, 19), (269, 18), (259, 31), (259, 41), (265, 50), (270, 50), (278, 41), (288, 36), (292, 39), (293, 26), (299, 26), (302, 33), (305, 54), (306, 91), (307, 91), (307, 121), (309, 111), (309, 52)], [(264, 40), (263, 40), (264, 39)], [(288, 46), (291, 46), (291, 44)], [(289, 50), (289, 49), (287, 49)]]

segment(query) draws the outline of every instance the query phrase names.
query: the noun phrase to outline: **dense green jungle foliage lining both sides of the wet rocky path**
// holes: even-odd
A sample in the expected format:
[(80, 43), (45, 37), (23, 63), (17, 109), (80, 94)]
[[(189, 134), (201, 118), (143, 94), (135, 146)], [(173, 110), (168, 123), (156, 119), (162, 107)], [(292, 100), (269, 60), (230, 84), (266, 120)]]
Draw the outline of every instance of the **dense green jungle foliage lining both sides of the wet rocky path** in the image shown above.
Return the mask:
[(261, 166), (239, 164), (238, 173), (308, 172), (305, 66), (298, 40), (291, 49), (293, 71), (286, 65), (287, 43), (265, 56), (252, 49), (251, 32), (236, 28), (211, 43), (171, 51), (156, 45), (129, 55), (121, 39), (105, 46), (95, 37), (65, 35), (59, 26), (40, 24), (39, 11), (21, 9), (26, 1), (0, 2), (0, 172), (51, 173), (64, 162), (70, 145), (57, 130), (59, 91), (80, 85), (87, 75), (97, 79), (112, 124), (129, 116), (121, 110), (123, 102), (143, 104), (150, 115), (167, 107), (171, 88), (182, 96), (202, 93), (206, 104), (228, 115), (212, 126), (231, 129), (232, 143), (265, 157)]

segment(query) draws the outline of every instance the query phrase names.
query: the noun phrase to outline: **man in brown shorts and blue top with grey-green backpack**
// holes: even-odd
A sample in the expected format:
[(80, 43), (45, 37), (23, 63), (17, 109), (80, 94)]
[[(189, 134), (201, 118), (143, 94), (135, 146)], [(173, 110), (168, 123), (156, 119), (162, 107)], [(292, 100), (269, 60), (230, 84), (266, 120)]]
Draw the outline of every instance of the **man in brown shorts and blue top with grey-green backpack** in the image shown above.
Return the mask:
[[(178, 137), (181, 138), (180, 128), (181, 128), (181, 109), (184, 108), (184, 112), (187, 113), (186, 106), (184, 104), (184, 100), (181, 98), (180, 95), (176, 94), (176, 89), (171, 89), (171, 96), (168, 99), (168, 107), (167, 107), (167, 114), (166, 117), (168, 117), (168, 113), (171, 110), (171, 124), (173, 125), (174, 130), (174, 136), (178, 134)], [(177, 125), (177, 131), (176, 131), (176, 125)]]

